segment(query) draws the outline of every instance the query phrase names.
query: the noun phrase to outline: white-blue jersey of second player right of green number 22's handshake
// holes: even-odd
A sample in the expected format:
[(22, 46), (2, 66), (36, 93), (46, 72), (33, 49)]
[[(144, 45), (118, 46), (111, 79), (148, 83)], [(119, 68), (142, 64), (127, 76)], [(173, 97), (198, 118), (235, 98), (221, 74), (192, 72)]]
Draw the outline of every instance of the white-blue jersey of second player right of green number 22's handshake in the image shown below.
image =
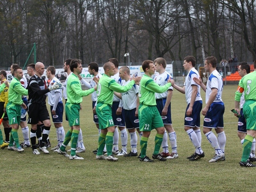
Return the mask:
[(223, 90), (223, 81), (221, 75), (216, 69), (212, 71), (206, 84), (205, 103), (207, 103), (210, 98), (212, 88), (218, 89), (217, 95), (213, 102), (222, 102), (221, 95)]

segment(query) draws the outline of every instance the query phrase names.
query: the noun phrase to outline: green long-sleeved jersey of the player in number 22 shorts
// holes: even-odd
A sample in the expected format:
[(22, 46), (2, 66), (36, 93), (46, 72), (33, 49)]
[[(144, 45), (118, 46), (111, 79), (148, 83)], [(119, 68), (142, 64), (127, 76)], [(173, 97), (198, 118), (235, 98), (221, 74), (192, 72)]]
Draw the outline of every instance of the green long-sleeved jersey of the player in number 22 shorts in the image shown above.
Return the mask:
[(140, 80), (140, 90), (138, 94), (140, 104), (156, 105), (155, 93), (166, 92), (171, 85), (171, 83), (167, 83), (163, 86), (159, 86), (151, 77), (144, 74)]

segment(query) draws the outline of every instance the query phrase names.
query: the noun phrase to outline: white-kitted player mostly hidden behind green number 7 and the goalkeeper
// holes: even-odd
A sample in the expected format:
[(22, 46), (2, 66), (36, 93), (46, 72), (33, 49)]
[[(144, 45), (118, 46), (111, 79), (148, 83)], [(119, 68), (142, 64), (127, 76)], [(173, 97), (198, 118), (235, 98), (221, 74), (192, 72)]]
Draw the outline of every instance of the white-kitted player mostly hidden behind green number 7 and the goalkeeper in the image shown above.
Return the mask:
[[(16, 67), (20, 67), (20, 66), (18, 64), (12, 64), (11, 65), (10, 71), (11, 71), (12, 75), (13, 75), (13, 69), (16, 68)], [(28, 82), (27, 82), (27, 78), (26, 78), (25, 75), (23, 75), (22, 78), (20, 79), (20, 83), (25, 89), (27, 88)], [(27, 95), (22, 95), (22, 100), (26, 104), (27, 109), (28, 109)], [(28, 147), (31, 147), (31, 145), (30, 145), (30, 142), (29, 142), (29, 130), (28, 130), (27, 122), (26, 122), (26, 120), (27, 120), (27, 118), (26, 118), (27, 111), (24, 111), (24, 110), (21, 109), (21, 112), (22, 112), (21, 113), (22, 117), (20, 118), (20, 128), (21, 128), (21, 132), (22, 132), (22, 135), (23, 135), (23, 138), (24, 138), (24, 142), (20, 143), (20, 146), (22, 148), (28, 148)]]

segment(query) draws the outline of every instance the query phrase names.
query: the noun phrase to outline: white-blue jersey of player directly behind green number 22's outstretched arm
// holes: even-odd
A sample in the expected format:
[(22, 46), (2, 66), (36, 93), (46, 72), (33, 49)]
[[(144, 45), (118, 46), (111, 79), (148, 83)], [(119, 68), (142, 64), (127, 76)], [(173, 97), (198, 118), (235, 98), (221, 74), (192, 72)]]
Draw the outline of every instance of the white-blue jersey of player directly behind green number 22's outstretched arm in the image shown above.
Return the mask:
[[(171, 77), (171, 79), (172, 79), (172, 76), (167, 71), (164, 71), (164, 73), (162, 73), (162, 74), (157, 73), (154, 76), (153, 80), (159, 86), (163, 86), (163, 85), (167, 84), (167, 80), (169, 79), (169, 77)], [(172, 86), (170, 86), (168, 90), (173, 90)], [(167, 97), (167, 93), (168, 93), (168, 91), (163, 92), (163, 93), (155, 93), (155, 97), (156, 97), (156, 99), (163, 99), (163, 98)]]

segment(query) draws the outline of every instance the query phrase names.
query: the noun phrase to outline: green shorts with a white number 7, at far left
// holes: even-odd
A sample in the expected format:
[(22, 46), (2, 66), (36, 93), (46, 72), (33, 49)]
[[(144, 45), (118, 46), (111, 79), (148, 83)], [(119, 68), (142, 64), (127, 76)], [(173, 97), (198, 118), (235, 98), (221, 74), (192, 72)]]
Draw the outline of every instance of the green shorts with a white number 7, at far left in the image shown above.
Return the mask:
[(16, 105), (13, 103), (8, 103), (6, 106), (6, 111), (9, 119), (9, 124), (20, 124), (20, 105)]

